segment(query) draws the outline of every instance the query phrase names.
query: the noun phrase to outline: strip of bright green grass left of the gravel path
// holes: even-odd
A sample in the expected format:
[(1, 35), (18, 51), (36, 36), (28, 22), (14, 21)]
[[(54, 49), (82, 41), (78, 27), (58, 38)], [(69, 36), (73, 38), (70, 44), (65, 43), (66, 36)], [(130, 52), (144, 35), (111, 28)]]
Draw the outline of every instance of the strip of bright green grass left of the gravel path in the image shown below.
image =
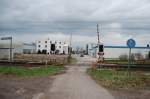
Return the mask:
[(16, 75), (21, 77), (30, 76), (43, 76), (43, 75), (54, 75), (62, 72), (64, 67), (62, 66), (48, 66), (48, 67), (19, 67), (19, 66), (0, 66), (0, 74)]

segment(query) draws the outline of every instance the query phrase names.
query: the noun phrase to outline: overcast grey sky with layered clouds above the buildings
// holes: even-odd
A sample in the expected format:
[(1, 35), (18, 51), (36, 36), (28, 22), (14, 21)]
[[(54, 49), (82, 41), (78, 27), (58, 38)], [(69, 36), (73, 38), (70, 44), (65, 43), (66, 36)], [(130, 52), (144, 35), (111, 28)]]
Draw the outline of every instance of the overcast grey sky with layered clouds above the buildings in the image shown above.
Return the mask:
[[(74, 44), (97, 42), (125, 45), (150, 43), (150, 0), (0, 0), (0, 36), (35, 41), (52, 36)], [(80, 42), (80, 43), (79, 43)]]

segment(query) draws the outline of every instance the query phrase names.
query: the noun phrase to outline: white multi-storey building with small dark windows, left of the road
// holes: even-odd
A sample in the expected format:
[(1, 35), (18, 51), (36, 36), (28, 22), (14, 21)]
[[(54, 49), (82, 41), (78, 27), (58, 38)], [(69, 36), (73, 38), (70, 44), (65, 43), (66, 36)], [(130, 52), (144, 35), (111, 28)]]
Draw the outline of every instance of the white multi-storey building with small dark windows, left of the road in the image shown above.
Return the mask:
[(68, 54), (68, 43), (65, 41), (42, 39), (36, 41), (37, 53)]

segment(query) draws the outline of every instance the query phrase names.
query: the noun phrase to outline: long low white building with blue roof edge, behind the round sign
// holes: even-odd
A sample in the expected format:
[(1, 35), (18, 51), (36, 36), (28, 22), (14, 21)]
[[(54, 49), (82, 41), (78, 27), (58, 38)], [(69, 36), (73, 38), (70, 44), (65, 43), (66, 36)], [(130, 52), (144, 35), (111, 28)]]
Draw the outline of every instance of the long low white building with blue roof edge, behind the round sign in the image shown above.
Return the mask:
[[(148, 54), (150, 48), (147, 46), (136, 46), (132, 49), (132, 53), (136, 54), (141, 53), (143, 57), (146, 57)], [(97, 44), (89, 44), (89, 55), (95, 58), (98, 58), (98, 47)], [(129, 48), (127, 46), (105, 46), (104, 45), (104, 58), (119, 58), (120, 55), (128, 55), (129, 54)]]

